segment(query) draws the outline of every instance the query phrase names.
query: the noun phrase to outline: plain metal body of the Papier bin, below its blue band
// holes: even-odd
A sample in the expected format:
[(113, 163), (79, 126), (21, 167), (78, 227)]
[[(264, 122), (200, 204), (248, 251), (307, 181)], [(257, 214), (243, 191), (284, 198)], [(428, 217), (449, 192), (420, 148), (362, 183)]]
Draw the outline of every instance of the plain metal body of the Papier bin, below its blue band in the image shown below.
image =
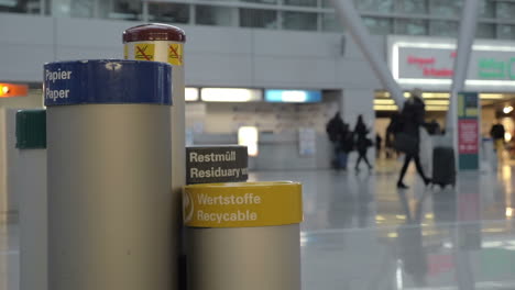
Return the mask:
[(47, 110), (52, 290), (169, 290), (169, 108)]

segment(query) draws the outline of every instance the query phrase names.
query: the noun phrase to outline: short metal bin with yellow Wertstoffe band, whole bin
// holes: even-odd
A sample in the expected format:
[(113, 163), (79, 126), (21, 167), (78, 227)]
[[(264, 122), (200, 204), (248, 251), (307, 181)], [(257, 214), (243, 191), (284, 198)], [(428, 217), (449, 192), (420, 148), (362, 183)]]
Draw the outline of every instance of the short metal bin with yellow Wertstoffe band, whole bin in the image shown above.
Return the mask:
[(302, 185), (186, 186), (190, 290), (299, 290)]

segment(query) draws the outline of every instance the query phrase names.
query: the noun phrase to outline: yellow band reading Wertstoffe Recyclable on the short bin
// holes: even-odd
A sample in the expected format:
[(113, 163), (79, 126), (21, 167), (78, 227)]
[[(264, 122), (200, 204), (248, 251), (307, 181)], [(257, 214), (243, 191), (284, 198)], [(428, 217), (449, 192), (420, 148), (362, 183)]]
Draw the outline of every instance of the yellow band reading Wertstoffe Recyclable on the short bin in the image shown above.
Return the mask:
[(184, 224), (193, 227), (250, 227), (300, 223), (302, 185), (232, 182), (186, 186)]

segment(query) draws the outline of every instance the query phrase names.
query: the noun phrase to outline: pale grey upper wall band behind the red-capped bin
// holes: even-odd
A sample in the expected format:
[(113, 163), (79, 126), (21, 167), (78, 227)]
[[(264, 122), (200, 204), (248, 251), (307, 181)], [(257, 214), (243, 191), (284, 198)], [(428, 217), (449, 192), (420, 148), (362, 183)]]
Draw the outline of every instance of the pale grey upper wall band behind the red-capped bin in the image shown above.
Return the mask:
[[(41, 81), (44, 63), (122, 57), (122, 32), (139, 23), (1, 14), (0, 24), (0, 80)], [(349, 36), (343, 57), (340, 34), (182, 27), (190, 86), (381, 88)], [(373, 43), (384, 52), (384, 37)]]

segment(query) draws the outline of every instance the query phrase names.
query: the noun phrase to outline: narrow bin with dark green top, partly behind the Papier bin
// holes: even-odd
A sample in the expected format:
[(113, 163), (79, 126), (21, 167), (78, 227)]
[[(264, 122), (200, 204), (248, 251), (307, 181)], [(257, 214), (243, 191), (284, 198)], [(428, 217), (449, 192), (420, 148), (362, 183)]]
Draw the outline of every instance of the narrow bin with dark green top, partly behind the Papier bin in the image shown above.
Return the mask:
[(17, 112), (12, 189), (20, 216), (20, 290), (47, 289), (46, 111)]

